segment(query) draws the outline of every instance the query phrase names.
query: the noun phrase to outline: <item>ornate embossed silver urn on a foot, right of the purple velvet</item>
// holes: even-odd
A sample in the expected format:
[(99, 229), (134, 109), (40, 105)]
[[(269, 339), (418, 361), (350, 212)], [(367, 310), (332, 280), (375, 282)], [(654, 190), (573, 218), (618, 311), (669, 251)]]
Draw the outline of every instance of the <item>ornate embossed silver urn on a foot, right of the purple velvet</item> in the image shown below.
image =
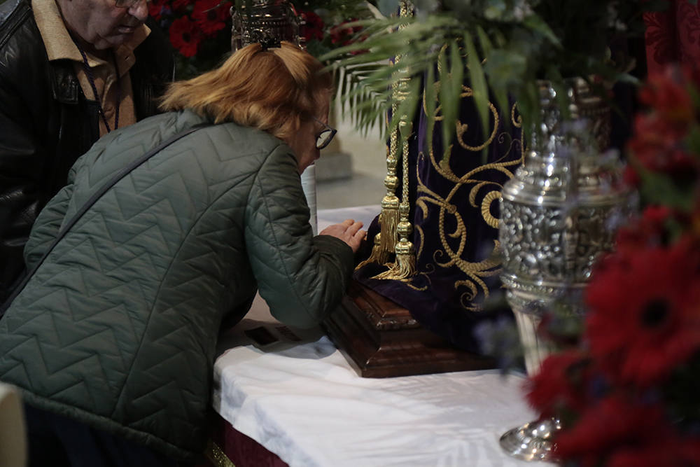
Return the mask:
[[(622, 163), (603, 154), (610, 107), (586, 81), (567, 81), (569, 115), (551, 83), (540, 82), (540, 120), (531, 131), (523, 165), (503, 186), (499, 242), (501, 279), (525, 351), (528, 374), (549, 353), (536, 332), (542, 311), (581, 316), (583, 291), (596, 259), (613, 246), (615, 227), (629, 211)], [(556, 419), (509, 431), (501, 445), (526, 460), (552, 459)]]

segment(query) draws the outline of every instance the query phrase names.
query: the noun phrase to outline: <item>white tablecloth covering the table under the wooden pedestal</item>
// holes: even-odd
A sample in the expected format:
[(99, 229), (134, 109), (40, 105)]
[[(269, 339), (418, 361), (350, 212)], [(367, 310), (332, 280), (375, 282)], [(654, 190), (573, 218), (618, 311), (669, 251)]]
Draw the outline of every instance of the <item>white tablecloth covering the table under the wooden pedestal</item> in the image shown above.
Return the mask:
[[(319, 229), (328, 217), (319, 211)], [(244, 333), (260, 326), (276, 342), (255, 344)], [(284, 328), (260, 298), (220, 349), (214, 408), (292, 467), (533, 466), (498, 445), (535, 416), (521, 376), (362, 378), (320, 329)]]

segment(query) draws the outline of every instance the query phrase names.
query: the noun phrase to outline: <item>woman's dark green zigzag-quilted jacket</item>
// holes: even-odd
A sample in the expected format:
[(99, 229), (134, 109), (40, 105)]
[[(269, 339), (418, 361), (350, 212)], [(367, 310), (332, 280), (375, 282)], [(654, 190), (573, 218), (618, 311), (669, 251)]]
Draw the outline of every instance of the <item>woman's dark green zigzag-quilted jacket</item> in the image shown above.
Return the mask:
[[(97, 141), (38, 216), (29, 268), (110, 176), (202, 121), (166, 113)], [(0, 320), (0, 380), (31, 405), (178, 459), (202, 452), (222, 319), (241, 319), (259, 288), (279, 321), (313, 326), (351, 274), (350, 247), (312, 235), (296, 167), (279, 139), (224, 123), (134, 169)]]

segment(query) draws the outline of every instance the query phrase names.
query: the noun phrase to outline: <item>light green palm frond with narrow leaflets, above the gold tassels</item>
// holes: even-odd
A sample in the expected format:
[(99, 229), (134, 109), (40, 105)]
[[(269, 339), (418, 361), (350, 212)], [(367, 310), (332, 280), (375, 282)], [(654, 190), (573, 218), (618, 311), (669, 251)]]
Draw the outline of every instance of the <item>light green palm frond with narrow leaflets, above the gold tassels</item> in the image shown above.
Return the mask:
[[(353, 25), (363, 27), (363, 40), (337, 48), (323, 55), (321, 60), (335, 59), (330, 67), (336, 69), (340, 76), (341, 108), (347, 110), (351, 121), (365, 131), (374, 125), (381, 125), (382, 137), (386, 138), (401, 118), (412, 120), (422, 104), (423, 79), (435, 77), (435, 64), (442, 49), (442, 44), (435, 41), (436, 31), (445, 32), (441, 40), (447, 40), (450, 36), (456, 39), (459, 37), (457, 31), (461, 28), (455, 18), (437, 15), (421, 22), (416, 18), (384, 18), (359, 21)], [(400, 41), (400, 46), (397, 41)], [(452, 49), (455, 52), (450, 53), (448, 60), (454, 63), (449, 68), (451, 73), (445, 72), (442, 78), (447, 78), (448, 74), (456, 78), (443, 86), (441, 90), (444, 91), (441, 92), (458, 97), (464, 63), (456, 52), (458, 48), (448, 48)], [(433, 78), (430, 78), (431, 81)], [(383, 125), (386, 116), (391, 113), (393, 90), (399, 84), (405, 87), (396, 109), (400, 118), (392, 118), (388, 126)], [(449, 103), (442, 106), (442, 113), (447, 112), (456, 119), (458, 99), (447, 100)], [(426, 102), (429, 101), (426, 99)], [(450, 130), (454, 132), (454, 125)]]

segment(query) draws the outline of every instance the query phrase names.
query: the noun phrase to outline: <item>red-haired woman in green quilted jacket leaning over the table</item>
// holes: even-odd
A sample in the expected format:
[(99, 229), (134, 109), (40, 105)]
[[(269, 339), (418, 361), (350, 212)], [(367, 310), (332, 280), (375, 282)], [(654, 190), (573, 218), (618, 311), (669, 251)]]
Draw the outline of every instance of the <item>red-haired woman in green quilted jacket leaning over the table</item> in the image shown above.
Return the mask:
[(300, 183), (334, 133), (331, 91), (311, 55), (256, 43), (76, 162), (0, 321), (0, 380), (22, 389), (32, 465), (196, 459), (222, 320), (258, 288), (291, 326), (339, 303), (364, 231), (348, 220), (314, 237)]

